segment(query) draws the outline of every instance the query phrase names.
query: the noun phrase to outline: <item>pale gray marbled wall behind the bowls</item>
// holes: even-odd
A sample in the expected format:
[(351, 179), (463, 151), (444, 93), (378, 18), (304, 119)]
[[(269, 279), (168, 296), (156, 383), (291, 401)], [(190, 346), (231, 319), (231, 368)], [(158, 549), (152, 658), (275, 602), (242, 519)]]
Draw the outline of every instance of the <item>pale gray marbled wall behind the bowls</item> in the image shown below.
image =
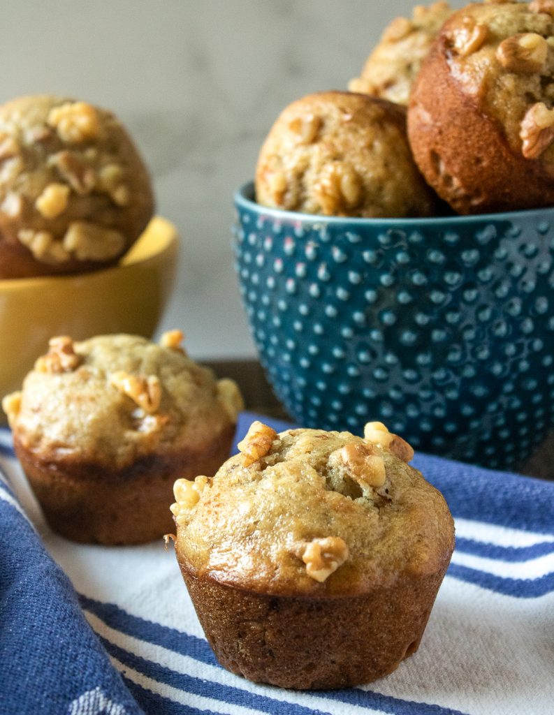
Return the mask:
[(230, 252), (232, 195), (281, 109), (344, 89), (406, 0), (1, 0), (0, 100), (48, 92), (112, 109), (183, 237), (160, 326), (196, 358), (255, 348)]

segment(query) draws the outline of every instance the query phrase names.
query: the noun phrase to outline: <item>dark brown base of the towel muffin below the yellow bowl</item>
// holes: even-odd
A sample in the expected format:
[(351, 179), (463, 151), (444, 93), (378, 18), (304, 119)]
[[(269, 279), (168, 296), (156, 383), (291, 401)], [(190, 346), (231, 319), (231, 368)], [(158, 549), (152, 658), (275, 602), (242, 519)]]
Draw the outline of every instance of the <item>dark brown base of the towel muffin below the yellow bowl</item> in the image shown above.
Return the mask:
[(230, 425), (194, 450), (147, 455), (121, 470), (39, 458), (16, 435), (14, 449), (52, 531), (71, 541), (122, 546), (174, 530), (169, 506), (175, 479), (215, 473), (234, 433)]

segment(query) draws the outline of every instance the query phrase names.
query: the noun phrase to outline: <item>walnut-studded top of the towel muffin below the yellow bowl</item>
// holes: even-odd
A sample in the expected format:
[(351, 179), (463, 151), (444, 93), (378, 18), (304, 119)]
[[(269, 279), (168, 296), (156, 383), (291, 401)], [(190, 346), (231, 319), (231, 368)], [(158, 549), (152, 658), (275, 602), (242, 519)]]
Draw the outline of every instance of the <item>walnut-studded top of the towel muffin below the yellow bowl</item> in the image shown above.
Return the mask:
[(203, 448), (235, 423), (242, 400), (232, 380), (188, 358), (182, 337), (52, 338), (21, 392), (3, 400), (14, 438), (37, 458), (110, 469)]

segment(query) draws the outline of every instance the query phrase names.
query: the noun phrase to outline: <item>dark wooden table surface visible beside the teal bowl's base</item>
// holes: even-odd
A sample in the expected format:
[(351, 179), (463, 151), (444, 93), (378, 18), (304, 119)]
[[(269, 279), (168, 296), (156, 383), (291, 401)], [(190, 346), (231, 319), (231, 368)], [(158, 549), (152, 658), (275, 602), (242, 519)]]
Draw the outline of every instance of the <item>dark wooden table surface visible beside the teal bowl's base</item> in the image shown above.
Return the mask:
[[(242, 390), (246, 408), (271, 417), (290, 419), (271, 391), (257, 360), (225, 360), (207, 363), (220, 378), (232, 378)], [(540, 479), (554, 480), (554, 432), (517, 471)]]

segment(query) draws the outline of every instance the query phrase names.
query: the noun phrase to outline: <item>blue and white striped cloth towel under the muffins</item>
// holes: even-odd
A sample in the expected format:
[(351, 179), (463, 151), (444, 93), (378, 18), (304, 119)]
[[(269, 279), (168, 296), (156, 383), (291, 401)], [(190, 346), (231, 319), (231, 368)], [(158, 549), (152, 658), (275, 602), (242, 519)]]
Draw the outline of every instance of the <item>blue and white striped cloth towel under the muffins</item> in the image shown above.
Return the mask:
[(370, 686), (298, 693), (220, 668), (162, 543), (49, 531), (10, 443), (0, 430), (1, 715), (554, 714), (554, 483), (417, 457), (457, 528), (419, 651)]

